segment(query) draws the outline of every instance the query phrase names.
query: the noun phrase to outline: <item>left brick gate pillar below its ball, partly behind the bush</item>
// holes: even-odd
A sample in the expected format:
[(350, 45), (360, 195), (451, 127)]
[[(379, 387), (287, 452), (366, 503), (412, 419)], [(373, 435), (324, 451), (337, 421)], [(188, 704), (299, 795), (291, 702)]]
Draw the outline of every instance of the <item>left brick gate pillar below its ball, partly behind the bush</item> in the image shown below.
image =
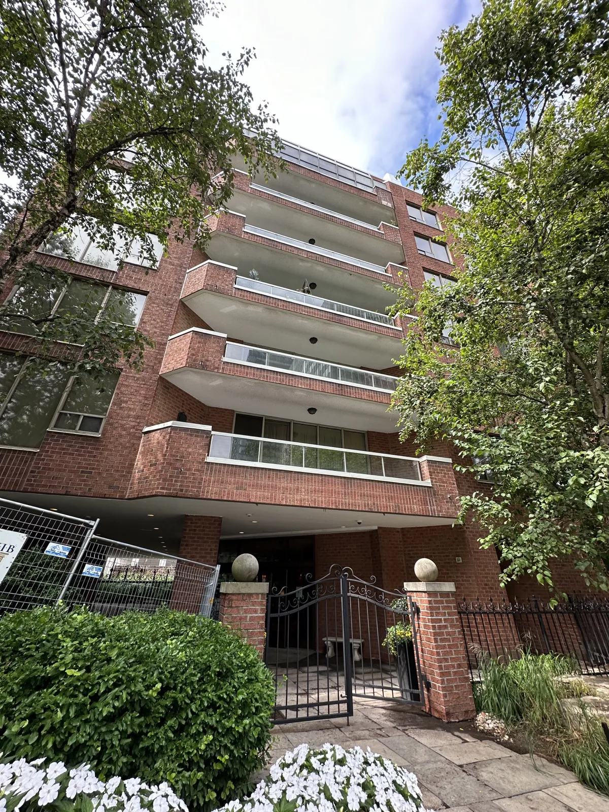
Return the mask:
[(220, 584), (221, 623), (240, 632), (261, 656), (265, 650), (267, 583), (223, 581)]

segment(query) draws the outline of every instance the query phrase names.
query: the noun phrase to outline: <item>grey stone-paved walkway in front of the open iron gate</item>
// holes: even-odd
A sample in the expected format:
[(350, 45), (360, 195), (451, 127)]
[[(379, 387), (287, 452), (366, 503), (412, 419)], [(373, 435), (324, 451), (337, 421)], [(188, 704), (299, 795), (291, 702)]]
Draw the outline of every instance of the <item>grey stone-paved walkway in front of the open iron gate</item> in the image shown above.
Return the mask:
[(346, 719), (274, 728), (270, 763), (306, 742), (369, 747), (417, 775), (425, 808), (452, 812), (609, 812), (609, 799), (590, 792), (563, 767), (519, 755), (458, 723), (443, 724), (417, 708), (354, 699)]

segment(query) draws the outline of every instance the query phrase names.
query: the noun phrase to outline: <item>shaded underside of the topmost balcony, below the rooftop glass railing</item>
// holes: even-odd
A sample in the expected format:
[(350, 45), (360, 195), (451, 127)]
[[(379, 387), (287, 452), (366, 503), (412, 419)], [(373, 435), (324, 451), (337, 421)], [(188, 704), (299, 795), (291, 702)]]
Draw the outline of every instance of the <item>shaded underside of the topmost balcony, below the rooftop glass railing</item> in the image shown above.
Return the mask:
[[(235, 156), (232, 159), (233, 166), (241, 171), (248, 171), (243, 158)], [(289, 164), (287, 165), (289, 166)], [(300, 172), (279, 172), (276, 178), (270, 178), (265, 184), (264, 173), (260, 172), (252, 178), (254, 184), (269, 186), (278, 192), (292, 197), (300, 197), (300, 200), (309, 201), (315, 205), (324, 206), (326, 209), (334, 209), (348, 217), (378, 224), (382, 220), (395, 225), (395, 212), (389, 205), (383, 205), (375, 200), (372, 195), (361, 196), (354, 192), (348, 192), (332, 184), (325, 175), (315, 175), (309, 177), (300, 175)]]

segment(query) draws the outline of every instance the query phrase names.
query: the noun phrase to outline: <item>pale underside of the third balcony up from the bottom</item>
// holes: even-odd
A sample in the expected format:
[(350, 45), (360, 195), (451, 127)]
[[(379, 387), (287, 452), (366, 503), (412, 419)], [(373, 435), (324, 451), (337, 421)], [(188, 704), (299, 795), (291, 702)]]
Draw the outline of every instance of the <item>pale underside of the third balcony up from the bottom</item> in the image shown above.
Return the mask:
[[(322, 310), (311, 308), (310, 314), (295, 313), (293, 309), (277, 306), (279, 300), (269, 304), (241, 299), (238, 295), (224, 296), (201, 290), (183, 300), (212, 330), (227, 333), (231, 339), (260, 347), (280, 348), (282, 352), (315, 356), (347, 366), (368, 369), (387, 369), (402, 349), (400, 330), (395, 335), (379, 332), (374, 326), (361, 322), (361, 327), (346, 324), (347, 318), (336, 321), (324, 317)], [(384, 328), (387, 330), (387, 328)], [(309, 339), (317, 338), (313, 345)]]

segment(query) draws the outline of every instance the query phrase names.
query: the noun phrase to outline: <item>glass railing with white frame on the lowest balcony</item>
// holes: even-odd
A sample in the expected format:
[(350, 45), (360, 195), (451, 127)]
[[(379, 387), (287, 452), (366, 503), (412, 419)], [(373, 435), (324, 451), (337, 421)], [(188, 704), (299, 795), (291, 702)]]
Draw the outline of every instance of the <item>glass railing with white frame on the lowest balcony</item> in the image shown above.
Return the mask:
[(421, 482), (419, 461), (412, 457), (313, 446), (288, 440), (247, 437), (213, 431), (209, 457), (250, 465), (293, 468), (307, 473), (347, 473), (352, 476)]

